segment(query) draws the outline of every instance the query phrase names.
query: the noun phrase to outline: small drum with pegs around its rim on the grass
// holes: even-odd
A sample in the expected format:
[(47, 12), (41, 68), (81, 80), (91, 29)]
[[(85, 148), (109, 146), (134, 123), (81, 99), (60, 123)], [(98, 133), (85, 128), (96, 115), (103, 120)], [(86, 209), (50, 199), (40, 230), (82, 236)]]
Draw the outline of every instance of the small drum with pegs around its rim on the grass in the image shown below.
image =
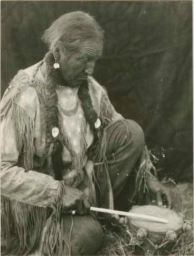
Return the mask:
[(131, 244), (136, 244), (135, 255), (161, 255), (164, 249), (169, 252), (178, 243), (180, 234), (191, 228), (189, 224), (184, 223), (183, 214), (162, 206), (133, 206), (129, 212), (164, 218), (169, 221), (165, 224), (127, 217)]

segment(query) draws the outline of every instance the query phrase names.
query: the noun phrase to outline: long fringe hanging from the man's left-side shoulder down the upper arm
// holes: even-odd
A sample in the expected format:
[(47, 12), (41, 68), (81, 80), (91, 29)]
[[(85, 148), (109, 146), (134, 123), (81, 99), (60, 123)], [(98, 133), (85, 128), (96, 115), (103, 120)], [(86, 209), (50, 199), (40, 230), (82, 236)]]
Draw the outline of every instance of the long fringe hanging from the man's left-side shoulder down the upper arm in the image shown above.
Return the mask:
[(39, 90), (36, 88), (38, 85), (35, 78), (31, 78), (24, 70), (20, 70), (10, 82), (1, 103), (1, 121), (3, 119), (6, 119), (6, 122), (13, 120), (18, 150), (22, 155), (19, 158), (19, 165), (24, 167), (26, 172), (33, 168), (35, 124), (27, 111), (17, 103), (17, 98), (28, 86), (33, 86), (38, 93)]

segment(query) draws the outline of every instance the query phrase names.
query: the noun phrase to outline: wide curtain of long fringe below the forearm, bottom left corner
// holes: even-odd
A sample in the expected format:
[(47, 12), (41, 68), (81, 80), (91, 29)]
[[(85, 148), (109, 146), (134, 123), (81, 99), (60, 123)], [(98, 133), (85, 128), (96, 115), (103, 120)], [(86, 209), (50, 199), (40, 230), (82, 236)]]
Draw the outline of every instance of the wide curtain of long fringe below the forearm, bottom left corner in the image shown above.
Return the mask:
[(1, 255), (27, 255), (41, 238), (47, 209), (1, 194)]

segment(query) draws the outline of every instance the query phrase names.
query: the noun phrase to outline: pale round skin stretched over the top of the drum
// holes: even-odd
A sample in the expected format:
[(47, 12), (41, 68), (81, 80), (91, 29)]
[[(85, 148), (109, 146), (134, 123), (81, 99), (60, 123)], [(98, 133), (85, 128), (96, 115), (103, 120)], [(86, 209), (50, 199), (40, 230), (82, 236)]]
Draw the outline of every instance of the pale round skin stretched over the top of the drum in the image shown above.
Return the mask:
[(176, 232), (182, 229), (183, 220), (179, 216), (179, 214), (163, 206), (137, 206), (131, 209), (129, 212), (164, 218), (169, 221), (169, 223), (166, 224), (161, 222), (155, 222), (152, 220), (143, 220), (140, 218), (128, 217), (129, 226), (130, 224), (132, 224), (137, 228), (145, 228), (148, 232), (156, 232), (161, 234), (166, 233), (168, 230)]

